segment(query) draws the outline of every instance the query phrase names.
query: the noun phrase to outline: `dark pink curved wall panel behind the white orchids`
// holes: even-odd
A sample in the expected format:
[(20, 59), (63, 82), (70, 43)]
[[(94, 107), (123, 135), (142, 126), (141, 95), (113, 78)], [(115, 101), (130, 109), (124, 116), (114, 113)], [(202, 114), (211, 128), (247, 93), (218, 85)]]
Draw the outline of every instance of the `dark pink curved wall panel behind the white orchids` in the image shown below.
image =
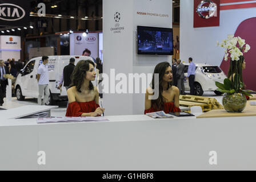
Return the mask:
[[(245, 53), (246, 68), (243, 69), (243, 82), (246, 85), (246, 89), (256, 91), (256, 18), (250, 18), (244, 20), (239, 24), (235, 36), (240, 36), (245, 39), (245, 42), (250, 45), (251, 49)], [(222, 60), (221, 69), (227, 75), (229, 71), (229, 60)]]

